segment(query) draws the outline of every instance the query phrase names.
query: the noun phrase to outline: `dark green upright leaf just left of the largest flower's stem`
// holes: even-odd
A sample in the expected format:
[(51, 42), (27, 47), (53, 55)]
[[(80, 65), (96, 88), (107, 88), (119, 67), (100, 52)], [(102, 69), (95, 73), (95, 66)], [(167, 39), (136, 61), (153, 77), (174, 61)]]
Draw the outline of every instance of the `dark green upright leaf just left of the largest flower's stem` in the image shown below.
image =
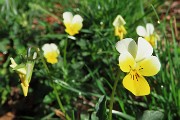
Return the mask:
[(96, 116), (99, 120), (107, 120), (106, 114), (106, 96), (101, 96), (98, 103), (96, 104)]

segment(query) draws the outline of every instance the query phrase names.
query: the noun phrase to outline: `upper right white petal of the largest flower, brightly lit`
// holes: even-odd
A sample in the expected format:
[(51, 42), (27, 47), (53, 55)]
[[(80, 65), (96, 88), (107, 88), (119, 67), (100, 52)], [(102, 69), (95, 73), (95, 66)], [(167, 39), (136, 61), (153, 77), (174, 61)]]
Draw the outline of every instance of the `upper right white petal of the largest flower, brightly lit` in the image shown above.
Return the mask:
[(147, 42), (144, 38), (138, 38), (138, 48), (136, 55), (136, 62), (143, 60), (146, 57), (151, 56), (153, 53), (153, 48), (149, 42)]

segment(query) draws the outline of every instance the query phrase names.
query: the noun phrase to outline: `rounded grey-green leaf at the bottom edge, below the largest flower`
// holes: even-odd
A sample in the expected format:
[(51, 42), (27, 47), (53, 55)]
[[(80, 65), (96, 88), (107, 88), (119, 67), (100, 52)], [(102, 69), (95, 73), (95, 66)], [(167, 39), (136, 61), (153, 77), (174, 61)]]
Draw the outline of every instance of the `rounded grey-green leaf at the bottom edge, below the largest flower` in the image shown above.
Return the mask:
[(146, 110), (144, 111), (141, 120), (162, 120), (164, 114), (160, 111)]

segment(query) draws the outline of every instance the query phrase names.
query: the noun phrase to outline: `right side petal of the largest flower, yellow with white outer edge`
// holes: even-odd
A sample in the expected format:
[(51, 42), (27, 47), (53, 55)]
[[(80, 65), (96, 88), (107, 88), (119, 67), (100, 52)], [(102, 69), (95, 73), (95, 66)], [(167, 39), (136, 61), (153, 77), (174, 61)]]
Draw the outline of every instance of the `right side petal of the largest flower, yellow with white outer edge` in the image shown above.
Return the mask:
[(161, 64), (156, 56), (150, 56), (141, 62), (139, 65), (139, 73), (143, 76), (153, 76), (160, 71)]

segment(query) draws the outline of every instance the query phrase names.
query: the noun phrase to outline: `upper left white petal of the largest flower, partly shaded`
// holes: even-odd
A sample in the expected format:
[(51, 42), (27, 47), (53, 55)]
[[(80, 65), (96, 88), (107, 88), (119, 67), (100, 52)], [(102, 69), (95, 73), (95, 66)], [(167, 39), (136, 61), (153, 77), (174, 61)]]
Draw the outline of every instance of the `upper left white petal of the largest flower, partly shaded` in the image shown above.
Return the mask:
[(137, 45), (132, 38), (125, 38), (116, 43), (116, 50), (119, 53), (129, 52), (135, 58), (137, 53)]

